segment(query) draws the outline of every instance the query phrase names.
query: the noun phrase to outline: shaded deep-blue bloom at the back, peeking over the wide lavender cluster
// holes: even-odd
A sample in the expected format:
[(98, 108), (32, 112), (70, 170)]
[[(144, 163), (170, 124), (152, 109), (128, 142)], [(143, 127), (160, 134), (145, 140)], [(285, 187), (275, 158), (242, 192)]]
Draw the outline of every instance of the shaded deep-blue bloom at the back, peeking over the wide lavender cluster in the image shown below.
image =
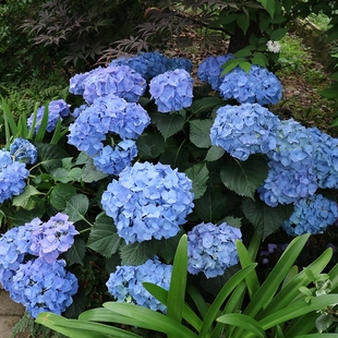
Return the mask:
[(110, 67), (129, 65), (135, 72), (140, 73), (143, 79), (150, 80), (156, 75), (167, 71), (168, 59), (158, 51), (140, 52), (130, 58), (119, 58), (110, 62)]

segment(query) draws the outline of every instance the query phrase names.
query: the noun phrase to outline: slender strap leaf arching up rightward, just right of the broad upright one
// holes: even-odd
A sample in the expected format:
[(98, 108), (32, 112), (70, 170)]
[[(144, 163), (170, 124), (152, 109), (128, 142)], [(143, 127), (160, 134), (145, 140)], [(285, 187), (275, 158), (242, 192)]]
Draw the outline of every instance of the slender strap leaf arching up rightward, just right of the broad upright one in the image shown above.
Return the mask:
[(198, 337), (206, 337), (206, 334), (212, 329), (213, 323), (216, 321), (219, 310), (225, 300), (232, 292), (232, 290), (256, 267), (257, 264), (251, 264), (241, 270), (237, 271), (221, 288), (210, 305), (205, 318)]

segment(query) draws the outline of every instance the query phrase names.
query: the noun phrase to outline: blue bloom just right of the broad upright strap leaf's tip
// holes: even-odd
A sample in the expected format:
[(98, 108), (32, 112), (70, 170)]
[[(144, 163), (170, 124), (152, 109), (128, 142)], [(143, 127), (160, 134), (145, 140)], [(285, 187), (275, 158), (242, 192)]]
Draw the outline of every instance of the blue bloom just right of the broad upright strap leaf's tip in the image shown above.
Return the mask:
[(236, 241), (241, 238), (241, 230), (226, 222), (195, 226), (188, 232), (188, 271), (193, 275), (204, 273), (207, 278), (222, 275), (238, 263)]

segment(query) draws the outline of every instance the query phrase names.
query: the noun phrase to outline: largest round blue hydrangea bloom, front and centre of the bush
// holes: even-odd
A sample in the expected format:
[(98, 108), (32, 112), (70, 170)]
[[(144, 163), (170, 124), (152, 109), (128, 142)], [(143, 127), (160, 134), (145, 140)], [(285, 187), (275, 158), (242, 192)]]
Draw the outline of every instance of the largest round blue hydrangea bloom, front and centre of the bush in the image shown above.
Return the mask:
[(126, 243), (168, 239), (192, 212), (192, 182), (168, 165), (136, 162), (108, 184), (102, 208)]

